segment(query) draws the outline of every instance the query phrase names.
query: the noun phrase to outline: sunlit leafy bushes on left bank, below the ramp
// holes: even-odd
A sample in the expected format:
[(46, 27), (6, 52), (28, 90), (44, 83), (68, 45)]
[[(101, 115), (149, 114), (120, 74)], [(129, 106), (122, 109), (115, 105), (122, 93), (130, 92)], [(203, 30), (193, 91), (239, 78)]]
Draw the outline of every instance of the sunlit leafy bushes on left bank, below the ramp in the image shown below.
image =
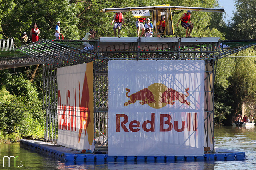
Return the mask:
[(0, 72), (0, 128), (11, 140), (20, 136), (43, 137), (42, 99), (26, 74)]

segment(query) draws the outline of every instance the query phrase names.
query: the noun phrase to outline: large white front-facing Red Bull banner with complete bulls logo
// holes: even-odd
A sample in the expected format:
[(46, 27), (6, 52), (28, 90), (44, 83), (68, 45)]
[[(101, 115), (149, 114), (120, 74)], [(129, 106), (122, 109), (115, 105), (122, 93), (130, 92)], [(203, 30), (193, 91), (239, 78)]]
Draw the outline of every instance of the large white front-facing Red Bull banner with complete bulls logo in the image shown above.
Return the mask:
[(204, 61), (108, 66), (108, 156), (204, 154)]

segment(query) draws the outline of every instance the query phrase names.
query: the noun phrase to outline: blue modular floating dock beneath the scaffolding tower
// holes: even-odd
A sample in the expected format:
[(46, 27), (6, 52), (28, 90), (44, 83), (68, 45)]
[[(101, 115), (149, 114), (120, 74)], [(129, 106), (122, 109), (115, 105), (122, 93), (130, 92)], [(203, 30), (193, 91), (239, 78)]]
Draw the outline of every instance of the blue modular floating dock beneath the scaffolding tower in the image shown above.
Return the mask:
[[(47, 143), (46, 141), (20, 140), (20, 147), (50, 156), (60, 161), (73, 162), (176, 162), (176, 161), (234, 161), (245, 160), (245, 152), (216, 148), (216, 153), (204, 153), (203, 156), (108, 156), (107, 147), (99, 154), (85, 154), (80, 150)], [(95, 149), (97, 149), (95, 147)]]

